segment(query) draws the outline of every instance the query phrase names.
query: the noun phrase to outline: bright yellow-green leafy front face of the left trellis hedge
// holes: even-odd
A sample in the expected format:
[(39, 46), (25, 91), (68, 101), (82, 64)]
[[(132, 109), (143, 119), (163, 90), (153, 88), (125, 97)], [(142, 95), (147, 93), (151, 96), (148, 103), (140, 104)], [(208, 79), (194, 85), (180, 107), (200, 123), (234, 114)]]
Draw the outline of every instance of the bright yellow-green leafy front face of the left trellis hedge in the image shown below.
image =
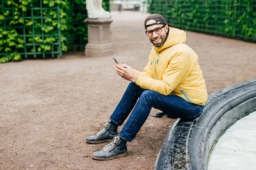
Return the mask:
[(55, 57), (54, 52), (58, 52), (61, 41), (60, 29), (66, 30), (66, 25), (61, 25), (66, 18), (66, 1), (1, 1), (0, 62), (47, 55)]

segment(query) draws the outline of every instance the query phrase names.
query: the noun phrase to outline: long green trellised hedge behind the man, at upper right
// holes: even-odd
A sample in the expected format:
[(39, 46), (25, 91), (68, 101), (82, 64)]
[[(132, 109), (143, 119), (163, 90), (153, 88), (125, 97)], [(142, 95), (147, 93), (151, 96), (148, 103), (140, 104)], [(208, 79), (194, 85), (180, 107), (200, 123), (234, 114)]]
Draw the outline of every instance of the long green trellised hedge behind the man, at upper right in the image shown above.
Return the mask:
[(152, 0), (151, 13), (173, 27), (256, 42), (255, 0)]

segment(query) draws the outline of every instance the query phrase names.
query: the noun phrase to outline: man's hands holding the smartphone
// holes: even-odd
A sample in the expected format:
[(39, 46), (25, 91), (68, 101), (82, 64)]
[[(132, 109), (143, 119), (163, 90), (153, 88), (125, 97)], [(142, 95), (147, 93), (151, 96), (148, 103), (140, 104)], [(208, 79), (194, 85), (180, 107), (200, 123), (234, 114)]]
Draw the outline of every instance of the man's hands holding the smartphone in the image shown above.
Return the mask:
[(133, 73), (132, 67), (126, 64), (115, 64), (116, 73), (125, 80), (135, 83), (137, 75)]

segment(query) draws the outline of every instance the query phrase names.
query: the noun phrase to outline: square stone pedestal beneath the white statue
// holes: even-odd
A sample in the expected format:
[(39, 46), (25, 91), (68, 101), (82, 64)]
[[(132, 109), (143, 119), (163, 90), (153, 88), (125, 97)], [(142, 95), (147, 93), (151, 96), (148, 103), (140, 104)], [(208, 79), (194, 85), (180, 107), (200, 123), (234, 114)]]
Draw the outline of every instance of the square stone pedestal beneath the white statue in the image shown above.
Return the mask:
[(85, 46), (85, 56), (101, 57), (113, 54), (110, 41), (111, 19), (88, 19), (88, 44)]

